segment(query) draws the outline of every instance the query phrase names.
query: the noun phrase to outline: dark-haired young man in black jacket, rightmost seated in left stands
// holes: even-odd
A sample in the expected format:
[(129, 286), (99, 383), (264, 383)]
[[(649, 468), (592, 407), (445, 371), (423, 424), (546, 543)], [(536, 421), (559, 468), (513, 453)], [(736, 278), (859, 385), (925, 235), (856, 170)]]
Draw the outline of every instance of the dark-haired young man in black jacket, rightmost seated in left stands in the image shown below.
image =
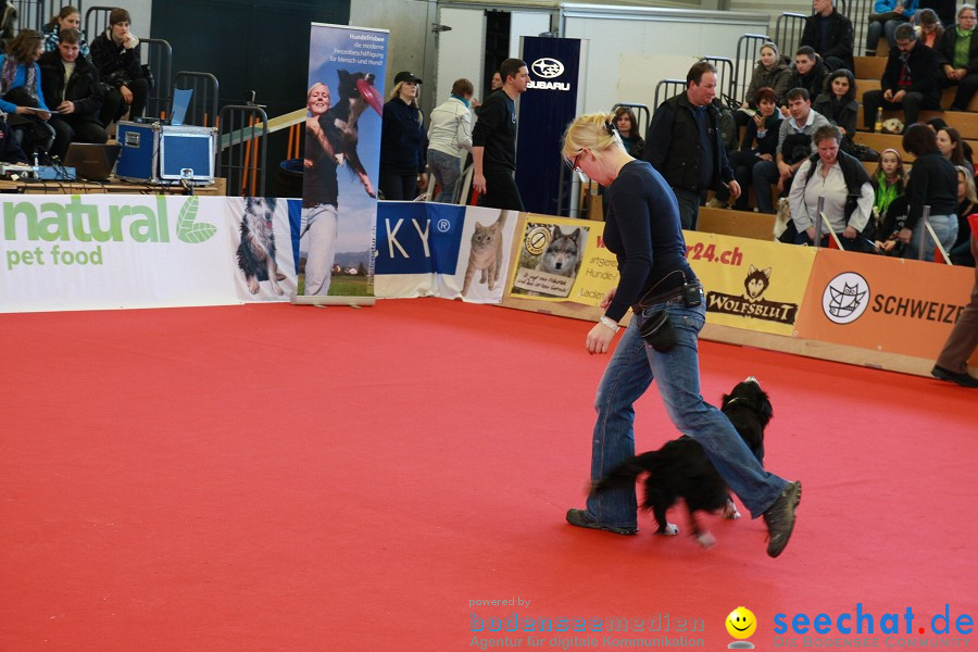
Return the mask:
[(139, 117), (146, 110), (149, 80), (142, 72), (139, 39), (129, 32), (129, 12), (113, 9), (109, 27), (91, 42), (91, 61), (105, 85), (105, 101), (99, 118), (103, 125), (115, 122), (129, 112)]

